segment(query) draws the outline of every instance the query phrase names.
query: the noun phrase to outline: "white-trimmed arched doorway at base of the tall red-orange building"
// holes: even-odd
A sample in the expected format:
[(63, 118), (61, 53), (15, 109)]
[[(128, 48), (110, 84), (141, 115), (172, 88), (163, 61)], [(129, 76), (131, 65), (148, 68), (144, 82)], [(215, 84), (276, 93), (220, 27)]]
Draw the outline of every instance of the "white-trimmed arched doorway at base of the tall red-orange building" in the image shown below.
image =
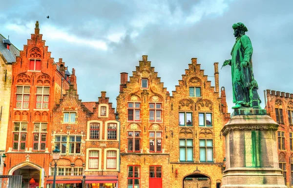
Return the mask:
[(42, 170), (42, 167), (30, 162), (24, 162), (10, 168), (8, 175), (21, 175), (23, 184), (21, 188), (36, 188), (43, 186), (43, 180), (40, 181), (40, 170)]

